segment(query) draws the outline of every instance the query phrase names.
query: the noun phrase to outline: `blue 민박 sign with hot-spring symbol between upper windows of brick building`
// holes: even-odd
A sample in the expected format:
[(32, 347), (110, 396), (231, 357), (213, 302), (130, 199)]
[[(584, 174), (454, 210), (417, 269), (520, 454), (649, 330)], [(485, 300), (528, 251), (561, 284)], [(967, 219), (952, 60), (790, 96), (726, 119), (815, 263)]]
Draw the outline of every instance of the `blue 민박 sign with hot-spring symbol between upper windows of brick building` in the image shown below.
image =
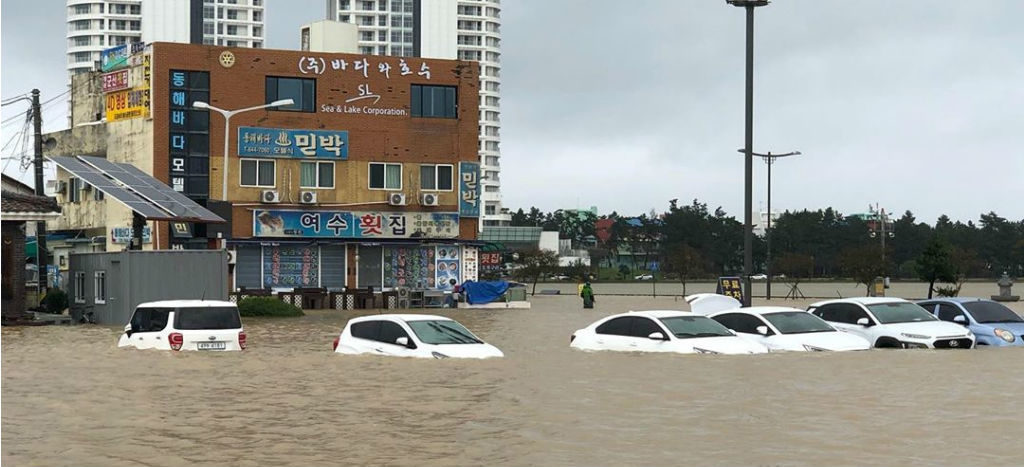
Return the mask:
[(348, 159), (348, 132), (239, 127), (239, 156)]

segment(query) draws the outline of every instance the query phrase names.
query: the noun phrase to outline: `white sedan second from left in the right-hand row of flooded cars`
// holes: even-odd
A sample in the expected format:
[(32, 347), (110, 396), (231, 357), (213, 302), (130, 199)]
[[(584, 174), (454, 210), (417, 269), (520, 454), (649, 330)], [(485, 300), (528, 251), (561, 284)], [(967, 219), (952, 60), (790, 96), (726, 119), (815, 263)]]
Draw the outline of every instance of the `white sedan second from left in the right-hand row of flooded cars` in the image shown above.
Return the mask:
[(771, 350), (867, 350), (864, 338), (844, 333), (805, 310), (785, 306), (752, 306), (710, 315), (736, 335)]

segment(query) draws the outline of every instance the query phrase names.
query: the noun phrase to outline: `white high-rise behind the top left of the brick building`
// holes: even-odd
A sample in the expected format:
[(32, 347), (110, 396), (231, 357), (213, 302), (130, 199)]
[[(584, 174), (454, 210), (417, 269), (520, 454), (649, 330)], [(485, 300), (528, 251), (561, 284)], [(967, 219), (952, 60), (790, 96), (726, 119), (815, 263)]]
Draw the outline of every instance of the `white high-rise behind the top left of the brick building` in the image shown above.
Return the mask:
[[(259, 48), (264, 0), (68, 0), (68, 71), (92, 70), (103, 49), (131, 42)], [(200, 20), (202, 19), (202, 20)], [(193, 34), (191, 25), (200, 25)]]

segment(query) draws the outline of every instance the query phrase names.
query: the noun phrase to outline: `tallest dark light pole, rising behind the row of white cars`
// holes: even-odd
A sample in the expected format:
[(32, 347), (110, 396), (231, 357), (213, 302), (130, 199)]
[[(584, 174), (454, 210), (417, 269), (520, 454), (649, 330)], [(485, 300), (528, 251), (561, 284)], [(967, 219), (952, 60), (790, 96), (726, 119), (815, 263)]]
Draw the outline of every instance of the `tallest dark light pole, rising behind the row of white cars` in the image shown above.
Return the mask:
[(751, 306), (751, 273), (754, 270), (754, 8), (768, 0), (725, 0), (732, 6), (746, 8), (746, 125), (743, 152), (743, 306)]

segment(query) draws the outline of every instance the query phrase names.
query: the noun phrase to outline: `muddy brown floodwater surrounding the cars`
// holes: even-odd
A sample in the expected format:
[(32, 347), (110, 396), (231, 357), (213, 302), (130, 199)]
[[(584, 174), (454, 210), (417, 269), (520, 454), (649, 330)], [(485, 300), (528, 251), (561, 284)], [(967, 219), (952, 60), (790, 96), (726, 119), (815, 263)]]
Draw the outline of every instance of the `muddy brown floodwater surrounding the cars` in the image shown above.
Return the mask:
[[(119, 349), (113, 327), (4, 328), (2, 461), (78, 465), (1021, 465), (1024, 349), (581, 352), (672, 298), (445, 310), (489, 360), (346, 356), (352, 312), (246, 320), (234, 353)], [(366, 313), (362, 313), (366, 314)]]

